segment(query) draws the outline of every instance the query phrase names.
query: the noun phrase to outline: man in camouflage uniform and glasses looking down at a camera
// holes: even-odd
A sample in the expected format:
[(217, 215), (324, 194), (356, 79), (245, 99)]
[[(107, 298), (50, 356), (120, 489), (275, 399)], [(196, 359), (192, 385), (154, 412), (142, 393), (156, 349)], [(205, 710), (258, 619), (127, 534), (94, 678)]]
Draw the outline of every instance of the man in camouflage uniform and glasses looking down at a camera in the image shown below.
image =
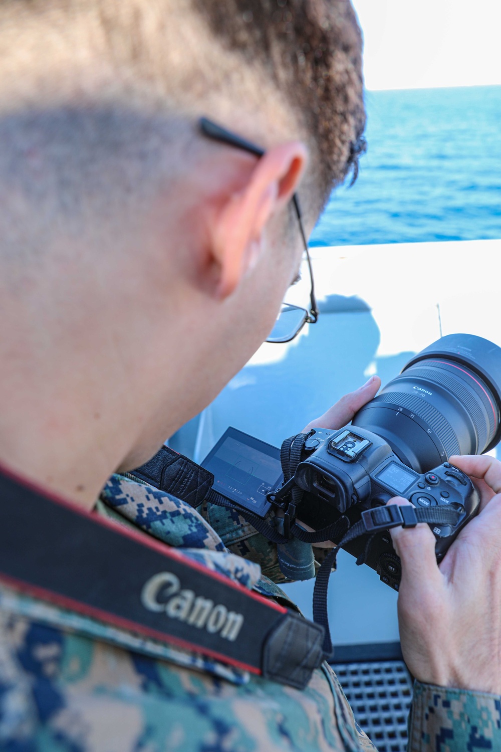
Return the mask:
[[(153, 536), (223, 584), (283, 603), (225, 546), (228, 518), (214, 530), (165, 493), (108, 478), (146, 462), (270, 332), (302, 253), (292, 196), (309, 231), (360, 150), (352, 8), (18, 0), (0, 14), (5, 478), (20, 494), (35, 484), (41, 504), (56, 496), (143, 529), (145, 547)], [(203, 115), (264, 155), (204, 138)], [(378, 387), (315, 424), (342, 426)], [(482, 511), (441, 569), (427, 526), (392, 531), (403, 651), (418, 679), (411, 750), (501, 748), (501, 468), (454, 462), (480, 479)], [(67, 550), (61, 572), (85, 559), (76, 542)], [(373, 748), (325, 664), (294, 689), (0, 579), (2, 749)]]

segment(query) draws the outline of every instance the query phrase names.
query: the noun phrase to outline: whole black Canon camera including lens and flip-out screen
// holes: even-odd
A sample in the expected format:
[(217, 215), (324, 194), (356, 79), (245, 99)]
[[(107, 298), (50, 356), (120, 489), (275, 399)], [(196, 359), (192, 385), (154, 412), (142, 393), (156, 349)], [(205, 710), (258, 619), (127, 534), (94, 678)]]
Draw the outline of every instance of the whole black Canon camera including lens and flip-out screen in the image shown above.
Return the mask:
[[(291, 436), (281, 450), (228, 428), (202, 466), (216, 479), (211, 501), (221, 497), (223, 506), (252, 514), (270, 541), (344, 539), (343, 548), (398, 590), (400, 559), (388, 526), (426, 521), (440, 562), (480, 502), (449, 458), (488, 452), (500, 440), (501, 347), (453, 334), (412, 356), (350, 426)], [(394, 496), (414, 507), (378, 509)], [(266, 522), (273, 506), (283, 513), (283, 533)]]

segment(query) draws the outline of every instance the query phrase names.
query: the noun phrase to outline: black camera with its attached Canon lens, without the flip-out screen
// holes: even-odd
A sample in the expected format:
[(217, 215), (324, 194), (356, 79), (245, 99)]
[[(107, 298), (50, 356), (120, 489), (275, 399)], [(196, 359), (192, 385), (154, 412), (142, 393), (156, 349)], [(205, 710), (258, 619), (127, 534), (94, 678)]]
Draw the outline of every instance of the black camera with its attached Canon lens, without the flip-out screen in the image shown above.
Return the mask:
[[(446, 335), (413, 356), (351, 426), (315, 429), (306, 438), (294, 469), (305, 492), (297, 517), (315, 530), (341, 516), (350, 527), (363, 517), (367, 528), (369, 510), (393, 496), (416, 508), (453, 508), (454, 526), (430, 523), (440, 561), (479, 509), (478, 491), (448, 458), (488, 452), (500, 439), (501, 347), (475, 335)], [(376, 530), (368, 548), (367, 535), (343, 547), (398, 590), (400, 559), (388, 530)]]

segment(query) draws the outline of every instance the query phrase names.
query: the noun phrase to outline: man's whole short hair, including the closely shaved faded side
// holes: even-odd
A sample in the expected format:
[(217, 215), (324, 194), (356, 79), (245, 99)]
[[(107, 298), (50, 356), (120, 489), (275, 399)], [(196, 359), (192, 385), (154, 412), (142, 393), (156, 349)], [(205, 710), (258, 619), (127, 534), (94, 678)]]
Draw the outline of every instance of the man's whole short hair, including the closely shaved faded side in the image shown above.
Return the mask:
[[(311, 208), (317, 215), (332, 187), (350, 169), (356, 176), (358, 155), (364, 149), (365, 114), (361, 32), (349, 0), (0, 0), (0, 38), (6, 53), (0, 68), (9, 65), (8, 56), (14, 60), (14, 73), (4, 77), (0, 98), (2, 105), (7, 103), (6, 113), (11, 111), (14, 120), (18, 118), (13, 129), (14, 120), (7, 116), (9, 124), (2, 116), (0, 144), (5, 158), (19, 153), (15, 171), (26, 173), (29, 188), (32, 178), (23, 153), (34, 138), (28, 138), (29, 134), (36, 129), (45, 134), (38, 143), (47, 144), (43, 147), (47, 180), (50, 165), (67, 176), (74, 169), (75, 154), (80, 164), (88, 165), (87, 171), (94, 165), (102, 173), (112, 158), (117, 170), (126, 159), (143, 159), (152, 180), (155, 170), (160, 176), (164, 163), (158, 160), (159, 137), (140, 141), (139, 152), (137, 137), (129, 149), (125, 147), (134, 131), (128, 127), (130, 119), (123, 117), (129, 102), (132, 120), (138, 123), (143, 118), (148, 131), (152, 118), (157, 134), (153, 121), (162, 116), (174, 123), (196, 122), (203, 114), (218, 119), (221, 114), (222, 125), (231, 127), (232, 120), (242, 120), (241, 110), (242, 114), (255, 112), (256, 139), (264, 146), (267, 128), (273, 129), (270, 140), (302, 138), (312, 159), (303, 182), (305, 200), (303, 196), (301, 200), (306, 211)], [(51, 54), (59, 56), (56, 70), (62, 71), (61, 81), (57, 75), (56, 80), (51, 77)], [(68, 97), (61, 88), (63, 78), (68, 86), (76, 71), (78, 89), (79, 76), (86, 71), (79, 69), (82, 59), (91, 60), (99, 75), (107, 71), (112, 80), (101, 102), (97, 91), (95, 101), (91, 98), (79, 105), (71, 84)], [(19, 78), (15, 65), (20, 66)], [(36, 83), (39, 73), (53, 88), (48, 97), (44, 93), (47, 80), (43, 86)], [(27, 105), (20, 84), (23, 74), (35, 82)], [(18, 97), (19, 108), (17, 102), (13, 104)], [(51, 109), (53, 118), (49, 117)], [(35, 117), (37, 112), (40, 117)], [(82, 122), (77, 127), (79, 118)], [(253, 138), (255, 134), (242, 135)], [(178, 128), (175, 138), (180, 143), (189, 134), (180, 134)], [(172, 148), (172, 139), (168, 141), (171, 154), (178, 161), (183, 156), (186, 165), (186, 155), (194, 150), (186, 148), (181, 155), (179, 147)], [(102, 148), (108, 144), (110, 159), (96, 161), (96, 143)], [(155, 159), (149, 159), (153, 153)], [(111, 166), (108, 171), (111, 180)], [(173, 169), (168, 172), (174, 175)], [(62, 184), (62, 177), (58, 180)], [(65, 177), (65, 184), (68, 180), (75, 190), (78, 185), (83, 190), (82, 171)], [(133, 190), (145, 183), (134, 181)], [(104, 186), (104, 180), (100, 184)], [(54, 185), (47, 183), (49, 187)], [(120, 184), (113, 190), (119, 193)], [(31, 188), (25, 193), (31, 196)], [(100, 193), (104, 196), (104, 188)], [(110, 206), (110, 191), (105, 199)], [(78, 203), (68, 201), (68, 211)]]

